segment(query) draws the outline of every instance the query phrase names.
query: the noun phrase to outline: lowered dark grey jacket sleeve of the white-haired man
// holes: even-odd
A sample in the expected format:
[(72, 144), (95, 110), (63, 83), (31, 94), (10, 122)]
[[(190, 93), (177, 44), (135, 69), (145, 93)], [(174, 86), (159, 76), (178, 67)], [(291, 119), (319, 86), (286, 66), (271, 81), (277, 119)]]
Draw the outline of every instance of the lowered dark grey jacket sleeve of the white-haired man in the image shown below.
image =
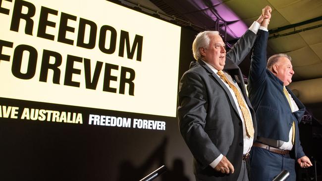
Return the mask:
[(179, 85), (178, 120), (182, 137), (194, 158), (207, 167), (221, 153), (204, 128), (207, 117), (206, 86), (200, 75), (186, 72)]

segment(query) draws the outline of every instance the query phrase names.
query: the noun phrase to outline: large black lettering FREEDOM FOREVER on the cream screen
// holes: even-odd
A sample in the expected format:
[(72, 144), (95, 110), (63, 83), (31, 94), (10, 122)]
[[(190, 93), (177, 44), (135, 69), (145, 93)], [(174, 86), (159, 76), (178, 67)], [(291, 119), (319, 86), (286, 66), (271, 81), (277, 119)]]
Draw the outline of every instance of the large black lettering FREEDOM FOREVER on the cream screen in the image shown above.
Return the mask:
[[(10, 31), (19, 32), (20, 30), (20, 32), (22, 32), (24, 30), (24, 34), (27, 36), (36, 36), (38, 38), (46, 39), (52, 43), (57, 41), (59, 43), (79, 48), (97, 48), (104, 54), (115, 53), (117, 44), (116, 40), (117, 36), (119, 36), (118, 56), (124, 57), (124, 53), (126, 51), (128, 59), (134, 59), (134, 55), (136, 55), (136, 62), (141, 62), (143, 36), (135, 35), (131, 47), (129, 38), (130, 33), (127, 31), (120, 30), (118, 33), (115, 28), (109, 25), (103, 25), (100, 28), (97, 23), (91, 20), (81, 17), (78, 18), (75, 15), (64, 12), (60, 12), (59, 14), (57, 10), (45, 6), (39, 7), (39, 14), (37, 13), (37, 10), (39, 10), (38, 7), (31, 2), (24, 0), (15, 0), (11, 13), (10, 9), (2, 7), (1, 3), (2, 1), (0, 1), (0, 13), (11, 15)], [(34, 16), (38, 14), (39, 22), (37, 23), (34, 21), (34, 19), (36, 19)], [(55, 22), (49, 18), (53, 16), (60, 16), (60, 20)], [(70, 25), (70, 22), (73, 21), (78, 22), (78, 27)], [(78, 31), (76, 31), (76, 28), (78, 28)], [(37, 33), (33, 35), (34, 29), (37, 29)], [(56, 34), (48, 31), (53, 29)], [(77, 32), (77, 35), (75, 32)], [(67, 35), (75, 35), (75, 40), (69, 38)], [(98, 41), (96, 41), (97, 36)], [(88, 40), (85, 40), (85, 37), (88, 37)], [(28, 42), (28, 44), (30, 43), (31, 42)], [(5, 47), (5, 49), (10, 49), (13, 52), (11, 54), (5, 54), (2, 52), (3, 47)], [(80, 49), (80, 51), (81, 50), (82, 49)], [(9, 62), (10, 57), (12, 57), (12, 62), (10, 62), (12, 64), (11, 73), (18, 79), (32, 79), (35, 77), (36, 71), (40, 70), (39, 81), (49, 82), (50, 80), (47, 80), (48, 73), (49, 71), (52, 71), (52, 82), (54, 84), (61, 84), (60, 80), (63, 80), (62, 84), (64, 86), (80, 88), (80, 85), (85, 83), (86, 89), (96, 90), (99, 79), (102, 80), (103, 78), (103, 91), (125, 94), (125, 85), (127, 85), (128, 94), (134, 95), (135, 70), (129, 67), (110, 63), (104, 64), (103, 61), (94, 61), (94, 63), (91, 63), (93, 60), (77, 56), (75, 54), (64, 55), (50, 49), (40, 50), (35, 48), (33, 45), (14, 45), (13, 42), (0, 40), (0, 61)], [(24, 59), (27, 59), (27, 62), (23, 57)], [(40, 69), (37, 67), (37, 61), (41, 61)], [(24, 64), (26, 63), (27, 69), (22, 71)], [(84, 68), (75, 68), (81, 64), (83, 64)], [(91, 65), (95, 65), (95, 68), (93, 69), (94, 73), (91, 72)], [(61, 66), (65, 66), (65, 70), (64, 68), (61, 68)], [(115, 72), (117, 72), (116, 75)], [(75, 77), (77, 78), (81, 74), (84, 75), (82, 78), (83, 80), (75, 81)], [(103, 74), (103, 76), (101, 76), (101, 74)], [(118, 80), (118, 86), (112, 87), (110, 82), (116, 82)]]

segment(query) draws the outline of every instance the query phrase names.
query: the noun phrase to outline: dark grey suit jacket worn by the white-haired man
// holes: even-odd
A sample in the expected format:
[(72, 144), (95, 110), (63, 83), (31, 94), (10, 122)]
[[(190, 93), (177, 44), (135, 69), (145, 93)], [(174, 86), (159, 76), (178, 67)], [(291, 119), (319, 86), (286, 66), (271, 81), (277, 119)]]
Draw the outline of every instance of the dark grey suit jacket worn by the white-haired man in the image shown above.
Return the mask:
[[(237, 66), (250, 52), (256, 35), (247, 31), (226, 53), (224, 70), (235, 78), (249, 106), (256, 137), (255, 113)], [(243, 156), (243, 127), (233, 98), (215, 73), (201, 60), (192, 62), (180, 80), (178, 121), (181, 135), (194, 156), (194, 172), (205, 181), (236, 181)], [(220, 154), (233, 164), (234, 174), (209, 166)]]

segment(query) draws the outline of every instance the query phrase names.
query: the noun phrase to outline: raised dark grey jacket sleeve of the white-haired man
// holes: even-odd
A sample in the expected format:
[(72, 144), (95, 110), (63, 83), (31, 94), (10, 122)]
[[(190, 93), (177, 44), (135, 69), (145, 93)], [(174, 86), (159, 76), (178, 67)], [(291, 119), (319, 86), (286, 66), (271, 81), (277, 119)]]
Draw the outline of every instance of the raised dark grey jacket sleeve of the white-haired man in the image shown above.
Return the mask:
[(226, 53), (236, 65), (239, 65), (251, 51), (256, 39), (256, 34), (247, 30), (235, 45)]

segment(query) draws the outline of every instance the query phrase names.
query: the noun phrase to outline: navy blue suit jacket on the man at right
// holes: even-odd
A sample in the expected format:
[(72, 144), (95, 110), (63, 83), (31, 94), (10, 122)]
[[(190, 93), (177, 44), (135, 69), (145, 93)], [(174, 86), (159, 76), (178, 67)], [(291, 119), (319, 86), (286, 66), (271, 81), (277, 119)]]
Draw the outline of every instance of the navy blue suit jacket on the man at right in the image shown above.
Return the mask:
[(259, 30), (257, 39), (256, 41), (264, 44), (254, 45), (247, 87), (249, 99), (256, 112), (257, 136), (287, 142), (294, 121), (296, 136), (293, 149), (296, 158), (301, 158), (305, 154), (299, 139), (298, 124), (304, 115), (305, 107), (292, 91), (286, 88), (299, 107), (298, 111), (292, 113), (283, 93), (283, 82), (266, 68), (268, 32)]

